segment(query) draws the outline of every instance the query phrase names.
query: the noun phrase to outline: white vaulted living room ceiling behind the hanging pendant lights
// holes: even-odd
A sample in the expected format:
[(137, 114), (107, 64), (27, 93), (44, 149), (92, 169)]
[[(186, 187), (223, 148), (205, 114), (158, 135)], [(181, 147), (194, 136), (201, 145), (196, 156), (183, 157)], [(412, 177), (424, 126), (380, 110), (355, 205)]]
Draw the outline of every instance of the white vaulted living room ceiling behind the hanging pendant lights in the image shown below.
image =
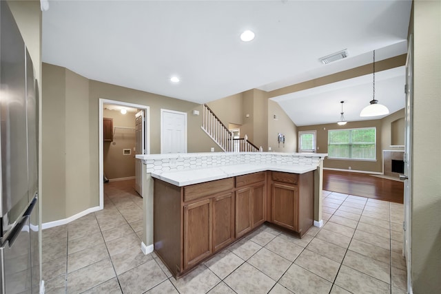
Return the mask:
[[(404, 66), (377, 72), (375, 75), (375, 98), (387, 105), (392, 114), (404, 107)], [(339, 83), (314, 87), (272, 98), (297, 126), (337, 123), (343, 103), (345, 120), (371, 120), (384, 116), (360, 117), (361, 110), (369, 105), (373, 96), (372, 74), (351, 78)], [(312, 123), (311, 123), (312, 122)]]

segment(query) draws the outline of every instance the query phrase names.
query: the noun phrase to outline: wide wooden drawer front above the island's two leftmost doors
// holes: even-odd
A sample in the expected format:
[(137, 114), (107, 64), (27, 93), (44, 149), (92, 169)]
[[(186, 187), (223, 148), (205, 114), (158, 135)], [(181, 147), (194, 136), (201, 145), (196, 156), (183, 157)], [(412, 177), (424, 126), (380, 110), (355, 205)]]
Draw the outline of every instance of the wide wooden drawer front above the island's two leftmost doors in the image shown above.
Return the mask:
[(234, 178), (224, 178), (222, 180), (212, 180), (211, 182), (201, 182), (201, 184), (189, 185), (184, 187), (184, 202), (214, 195), (218, 192), (227, 191), (234, 188)]

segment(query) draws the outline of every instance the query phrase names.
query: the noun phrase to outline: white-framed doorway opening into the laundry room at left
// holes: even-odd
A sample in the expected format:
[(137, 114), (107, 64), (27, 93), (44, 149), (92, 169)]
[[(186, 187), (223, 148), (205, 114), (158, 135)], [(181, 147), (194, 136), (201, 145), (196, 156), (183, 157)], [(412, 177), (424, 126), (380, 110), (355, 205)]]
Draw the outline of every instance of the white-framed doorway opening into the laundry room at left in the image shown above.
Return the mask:
[[(122, 112), (121, 110), (124, 109)], [(122, 114), (125, 112), (125, 114)], [(143, 115), (141, 132), (139, 119)], [(103, 119), (114, 118), (111, 130), (104, 128)], [(133, 119), (132, 119), (133, 118)], [(99, 207), (104, 208), (105, 180), (136, 179), (135, 189), (142, 196), (141, 160), (135, 160), (136, 154), (150, 154), (150, 107), (123, 101), (99, 99)], [(109, 135), (112, 138), (108, 138)], [(121, 152), (120, 152), (121, 151)], [(105, 158), (105, 155), (107, 158)], [(110, 174), (104, 173), (105, 160), (107, 166), (116, 164), (119, 169)], [(114, 162), (116, 161), (116, 162)], [(142, 163), (141, 163), (142, 165)], [(121, 169), (121, 167), (125, 167)], [(124, 172), (129, 172), (129, 176)], [(134, 174), (134, 176), (133, 176)]]

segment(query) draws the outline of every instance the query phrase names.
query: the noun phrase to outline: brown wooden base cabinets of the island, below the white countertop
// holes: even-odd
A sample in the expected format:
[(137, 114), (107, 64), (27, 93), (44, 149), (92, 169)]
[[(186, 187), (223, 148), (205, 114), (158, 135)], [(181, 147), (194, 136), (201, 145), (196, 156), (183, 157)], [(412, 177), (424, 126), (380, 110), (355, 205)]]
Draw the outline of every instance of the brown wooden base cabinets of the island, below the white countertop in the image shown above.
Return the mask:
[(265, 221), (299, 233), (314, 216), (314, 174), (258, 172), (176, 187), (154, 179), (154, 250), (174, 277)]

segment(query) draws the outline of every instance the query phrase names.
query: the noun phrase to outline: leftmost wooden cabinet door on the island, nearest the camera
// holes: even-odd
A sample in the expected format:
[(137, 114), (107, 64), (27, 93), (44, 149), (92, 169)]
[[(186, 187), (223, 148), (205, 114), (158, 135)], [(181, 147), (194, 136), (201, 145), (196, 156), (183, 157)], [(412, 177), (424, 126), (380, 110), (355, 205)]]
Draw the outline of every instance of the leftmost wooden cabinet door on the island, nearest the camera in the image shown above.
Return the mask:
[(212, 205), (209, 199), (184, 206), (184, 270), (212, 254)]

